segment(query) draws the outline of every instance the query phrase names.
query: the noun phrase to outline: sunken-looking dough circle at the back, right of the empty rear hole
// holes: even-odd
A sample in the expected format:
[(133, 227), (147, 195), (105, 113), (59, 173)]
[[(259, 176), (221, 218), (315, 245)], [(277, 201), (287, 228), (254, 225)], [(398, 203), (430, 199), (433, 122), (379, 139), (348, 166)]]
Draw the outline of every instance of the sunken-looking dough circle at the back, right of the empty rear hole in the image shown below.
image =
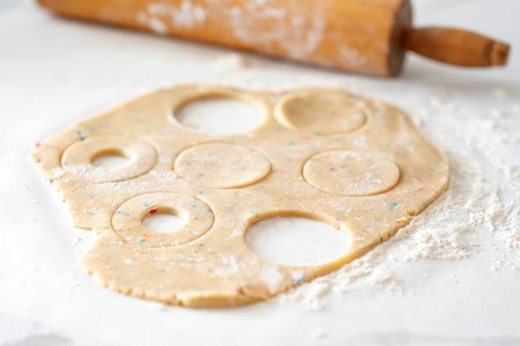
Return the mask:
[(358, 101), (340, 91), (320, 89), (285, 96), (275, 116), (287, 127), (317, 134), (349, 132), (365, 123)]

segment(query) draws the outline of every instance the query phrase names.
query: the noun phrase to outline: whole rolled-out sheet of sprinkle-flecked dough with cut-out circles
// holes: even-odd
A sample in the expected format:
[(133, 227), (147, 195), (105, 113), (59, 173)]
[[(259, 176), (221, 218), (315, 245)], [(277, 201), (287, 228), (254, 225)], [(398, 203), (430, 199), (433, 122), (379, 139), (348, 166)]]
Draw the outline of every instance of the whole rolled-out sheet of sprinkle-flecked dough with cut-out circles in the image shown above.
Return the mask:
[[(175, 118), (187, 102), (235, 98), (264, 122), (212, 135)], [(99, 168), (102, 155), (122, 168)], [(252, 93), (178, 86), (137, 98), (39, 143), (34, 163), (61, 193), (76, 227), (99, 236), (82, 264), (105, 286), (171, 304), (232, 306), (329, 273), (409, 223), (448, 185), (445, 156), (399, 109), (330, 89)], [(171, 213), (169, 233), (142, 225)], [(349, 240), (334, 261), (295, 267), (253, 254), (255, 221), (300, 216)]]

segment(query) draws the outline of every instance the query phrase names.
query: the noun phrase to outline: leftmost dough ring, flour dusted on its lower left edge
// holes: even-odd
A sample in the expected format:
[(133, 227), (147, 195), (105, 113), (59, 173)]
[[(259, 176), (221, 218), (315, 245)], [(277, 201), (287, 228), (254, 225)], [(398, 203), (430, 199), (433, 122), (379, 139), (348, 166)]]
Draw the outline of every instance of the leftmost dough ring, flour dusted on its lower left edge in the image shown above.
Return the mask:
[[(103, 155), (121, 155), (130, 160), (118, 168), (102, 168), (92, 162)], [(99, 135), (70, 145), (61, 157), (64, 170), (81, 174), (92, 183), (120, 182), (145, 174), (155, 166), (157, 152), (143, 139)]]

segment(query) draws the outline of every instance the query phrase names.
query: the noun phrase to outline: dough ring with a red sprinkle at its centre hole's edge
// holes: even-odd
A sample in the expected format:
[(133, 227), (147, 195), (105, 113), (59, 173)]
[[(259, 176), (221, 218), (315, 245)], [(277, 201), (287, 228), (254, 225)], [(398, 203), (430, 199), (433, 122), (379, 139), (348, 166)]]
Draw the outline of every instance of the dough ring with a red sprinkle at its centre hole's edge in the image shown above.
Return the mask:
[[(155, 232), (142, 220), (152, 214), (175, 214), (185, 225), (172, 232)], [(213, 225), (211, 208), (196, 198), (174, 193), (140, 195), (124, 202), (112, 216), (114, 232), (124, 241), (148, 247), (185, 244), (206, 233)]]

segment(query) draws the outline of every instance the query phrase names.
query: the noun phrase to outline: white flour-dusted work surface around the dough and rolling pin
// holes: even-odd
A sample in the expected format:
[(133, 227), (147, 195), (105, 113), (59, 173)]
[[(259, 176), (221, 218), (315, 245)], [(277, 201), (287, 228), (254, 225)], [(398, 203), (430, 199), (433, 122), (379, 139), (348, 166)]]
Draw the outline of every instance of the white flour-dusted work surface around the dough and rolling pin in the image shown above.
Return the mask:
[[(367, 274), (367, 283), (348, 281), (346, 292), (327, 294), (327, 305), (318, 312), (308, 312), (305, 301), (279, 300), (188, 310), (95, 284), (76, 262), (95, 235), (71, 227), (57, 194), (27, 159), (38, 140), (172, 83), (275, 89), (335, 85), (408, 111), (447, 151), (452, 197), (471, 198), (475, 182), (482, 181), (496, 187), (503, 200), (517, 201), (520, 3), (427, 0), (414, 5), (417, 24), (457, 25), (509, 41), (509, 66), (461, 70), (410, 57), (400, 79), (381, 80), (248, 55), (250, 68), (228, 71), (214, 65), (224, 49), (60, 19), (32, 2), (1, 2), (0, 345), (520, 344), (520, 250), (495, 240), (499, 232), (484, 219), (435, 209), (450, 206), (449, 194), (417, 219), (431, 223), (418, 222), (386, 248), (372, 251), (380, 253), (374, 271), (390, 272), (386, 277), (400, 289), (387, 289), (393, 287), (385, 284), (388, 280), (370, 285), (373, 277)], [(467, 165), (473, 171), (464, 170)], [(479, 207), (486, 211), (495, 203), (487, 197)], [(464, 204), (457, 201), (453, 209)], [(512, 213), (517, 216), (518, 210)], [(410, 251), (403, 249), (415, 244), (410, 239), (427, 235), (425, 241), (432, 242), (461, 222), (467, 232), (437, 241), (454, 254), (432, 256), (419, 249), (416, 260), (402, 260)], [(426, 233), (424, 225), (435, 232)]]

